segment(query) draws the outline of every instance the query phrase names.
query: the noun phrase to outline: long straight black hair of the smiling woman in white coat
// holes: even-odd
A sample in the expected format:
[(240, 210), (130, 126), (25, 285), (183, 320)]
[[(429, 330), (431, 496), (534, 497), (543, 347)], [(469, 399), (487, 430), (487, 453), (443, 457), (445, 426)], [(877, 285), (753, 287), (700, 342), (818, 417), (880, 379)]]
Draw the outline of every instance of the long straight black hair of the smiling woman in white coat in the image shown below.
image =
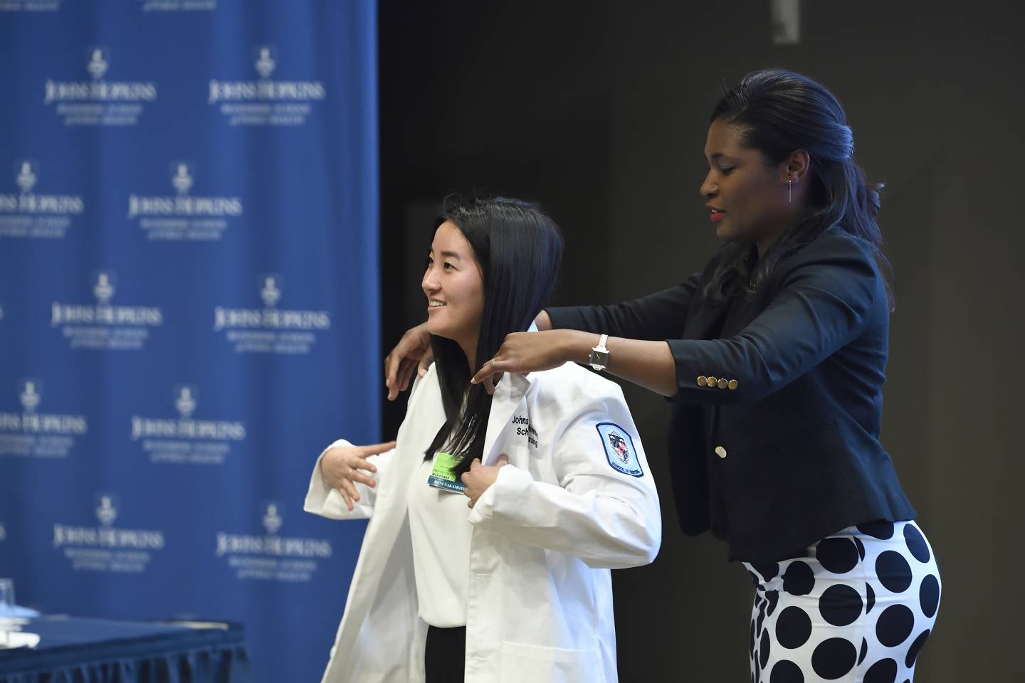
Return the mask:
[[(563, 254), (556, 222), (540, 208), (503, 197), (449, 197), (435, 229), (452, 221), (474, 250), (484, 275), (484, 311), (477, 340), (477, 367), (470, 368), (459, 344), (432, 335), (445, 424), (424, 454), (444, 451), (459, 461), (456, 472), (469, 469), (484, 455), (491, 395), (469, 379), (494, 357), (505, 335), (524, 332), (547, 304)], [(465, 407), (463, 401), (465, 400)]]

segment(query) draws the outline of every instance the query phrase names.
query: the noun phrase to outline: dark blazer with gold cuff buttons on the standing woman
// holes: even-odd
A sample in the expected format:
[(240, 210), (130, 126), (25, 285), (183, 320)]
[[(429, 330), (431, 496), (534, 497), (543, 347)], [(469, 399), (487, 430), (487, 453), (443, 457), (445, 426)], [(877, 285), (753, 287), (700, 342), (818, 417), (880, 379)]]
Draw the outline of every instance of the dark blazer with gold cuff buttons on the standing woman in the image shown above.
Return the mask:
[(854, 524), (913, 519), (878, 440), (890, 307), (870, 246), (830, 230), (750, 299), (715, 301), (702, 291), (725, 253), (641, 299), (547, 309), (557, 328), (668, 343), (684, 531), (710, 528), (731, 560), (770, 562)]

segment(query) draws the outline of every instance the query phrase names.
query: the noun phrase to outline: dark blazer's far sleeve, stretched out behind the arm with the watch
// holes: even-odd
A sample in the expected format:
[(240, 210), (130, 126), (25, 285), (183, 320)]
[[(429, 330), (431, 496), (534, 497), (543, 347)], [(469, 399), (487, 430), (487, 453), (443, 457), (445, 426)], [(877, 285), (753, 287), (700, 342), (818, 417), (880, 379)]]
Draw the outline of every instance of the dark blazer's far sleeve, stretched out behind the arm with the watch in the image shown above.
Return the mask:
[(697, 291), (696, 272), (675, 287), (648, 296), (606, 306), (547, 308), (552, 328), (583, 330), (625, 339), (679, 337)]

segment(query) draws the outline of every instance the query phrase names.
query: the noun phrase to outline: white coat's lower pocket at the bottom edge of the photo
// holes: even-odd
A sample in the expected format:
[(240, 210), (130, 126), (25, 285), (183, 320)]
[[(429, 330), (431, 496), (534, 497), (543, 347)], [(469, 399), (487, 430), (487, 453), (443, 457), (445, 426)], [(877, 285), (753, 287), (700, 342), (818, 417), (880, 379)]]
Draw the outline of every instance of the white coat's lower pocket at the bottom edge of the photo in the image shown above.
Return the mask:
[(601, 683), (605, 680), (596, 650), (569, 650), (502, 641), (499, 683)]

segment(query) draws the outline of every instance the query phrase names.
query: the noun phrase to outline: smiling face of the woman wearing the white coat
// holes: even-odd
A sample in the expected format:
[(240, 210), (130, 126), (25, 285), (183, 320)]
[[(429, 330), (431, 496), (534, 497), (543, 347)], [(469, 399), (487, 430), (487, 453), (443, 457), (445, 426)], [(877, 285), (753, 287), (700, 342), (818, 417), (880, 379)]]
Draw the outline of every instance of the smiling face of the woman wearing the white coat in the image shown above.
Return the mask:
[(420, 283), (427, 297), (427, 331), (476, 345), (484, 313), (484, 278), (473, 248), (450, 220), (435, 231)]

